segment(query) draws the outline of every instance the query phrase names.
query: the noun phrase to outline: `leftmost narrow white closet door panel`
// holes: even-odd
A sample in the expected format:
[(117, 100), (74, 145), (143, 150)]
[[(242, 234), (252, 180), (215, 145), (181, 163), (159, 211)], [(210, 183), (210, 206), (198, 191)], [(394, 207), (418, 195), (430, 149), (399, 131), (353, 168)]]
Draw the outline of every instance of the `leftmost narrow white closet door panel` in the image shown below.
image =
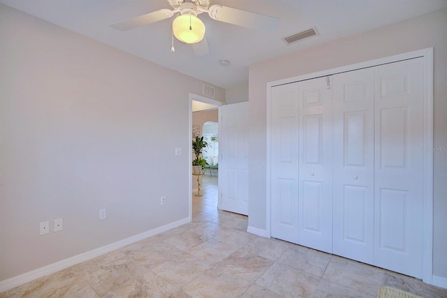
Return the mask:
[(298, 243), (298, 83), (271, 92), (271, 234)]

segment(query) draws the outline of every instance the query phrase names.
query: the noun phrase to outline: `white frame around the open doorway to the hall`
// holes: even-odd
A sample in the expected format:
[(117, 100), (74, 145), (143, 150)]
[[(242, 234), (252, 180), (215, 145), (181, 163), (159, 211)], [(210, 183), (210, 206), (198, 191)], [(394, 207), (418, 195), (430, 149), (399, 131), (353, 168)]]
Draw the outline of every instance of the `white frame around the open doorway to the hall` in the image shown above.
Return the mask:
[[(189, 137), (188, 137), (188, 160), (189, 160), (189, 221), (191, 222), (193, 220), (193, 170), (192, 170), (192, 163), (193, 163), (193, 149), (192, 149), (192, 142), (193, 142), (193, 100), (200, 101), (201, 103), (209, 103), (210, 105), (216, 105), (218, 114), (219, 114), (219, 133), (220, 133), (220, 122), (221, 122), (221, 106), (225, 105), (225, 103), (222, 103), (219, 100), (215, 100), (212, 98), (207, 98), (205, 96), (200, 96), (198, 94), (189, 94)], [(220, 155), (220, 154), (219, 154)], [(219, 182), (218, 182), (219, 184)], [(219, 193), (220, 193), (220, 186), (219, 187)], [(219, 201), (218, 201), (219, 202)]]

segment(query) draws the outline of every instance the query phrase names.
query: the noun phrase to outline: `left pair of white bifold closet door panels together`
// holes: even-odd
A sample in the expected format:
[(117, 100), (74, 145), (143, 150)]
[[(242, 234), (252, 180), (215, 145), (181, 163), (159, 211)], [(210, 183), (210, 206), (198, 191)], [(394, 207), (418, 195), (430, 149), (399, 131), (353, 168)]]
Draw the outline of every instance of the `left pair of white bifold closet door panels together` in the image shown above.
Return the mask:
[(271, 233), (332, 252), (332, 78), (272, 87)]

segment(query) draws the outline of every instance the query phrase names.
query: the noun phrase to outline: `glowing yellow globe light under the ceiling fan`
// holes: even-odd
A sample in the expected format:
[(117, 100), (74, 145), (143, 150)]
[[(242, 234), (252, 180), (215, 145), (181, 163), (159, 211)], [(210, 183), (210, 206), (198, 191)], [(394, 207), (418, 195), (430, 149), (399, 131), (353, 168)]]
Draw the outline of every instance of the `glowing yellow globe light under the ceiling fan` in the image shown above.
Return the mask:
[(175, 18), (173, 33), (184, 43), (198, 43), (205, 36), (205, 24), (192, 13), (185, 13)]

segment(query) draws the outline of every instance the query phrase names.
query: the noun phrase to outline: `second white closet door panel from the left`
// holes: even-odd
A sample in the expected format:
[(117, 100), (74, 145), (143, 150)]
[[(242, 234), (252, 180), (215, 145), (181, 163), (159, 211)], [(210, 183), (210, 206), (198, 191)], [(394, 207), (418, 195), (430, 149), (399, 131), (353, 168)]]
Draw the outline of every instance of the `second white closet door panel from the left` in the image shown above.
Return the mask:
[(332, 77), (299, 82), (299, 244), (332, 253)]

